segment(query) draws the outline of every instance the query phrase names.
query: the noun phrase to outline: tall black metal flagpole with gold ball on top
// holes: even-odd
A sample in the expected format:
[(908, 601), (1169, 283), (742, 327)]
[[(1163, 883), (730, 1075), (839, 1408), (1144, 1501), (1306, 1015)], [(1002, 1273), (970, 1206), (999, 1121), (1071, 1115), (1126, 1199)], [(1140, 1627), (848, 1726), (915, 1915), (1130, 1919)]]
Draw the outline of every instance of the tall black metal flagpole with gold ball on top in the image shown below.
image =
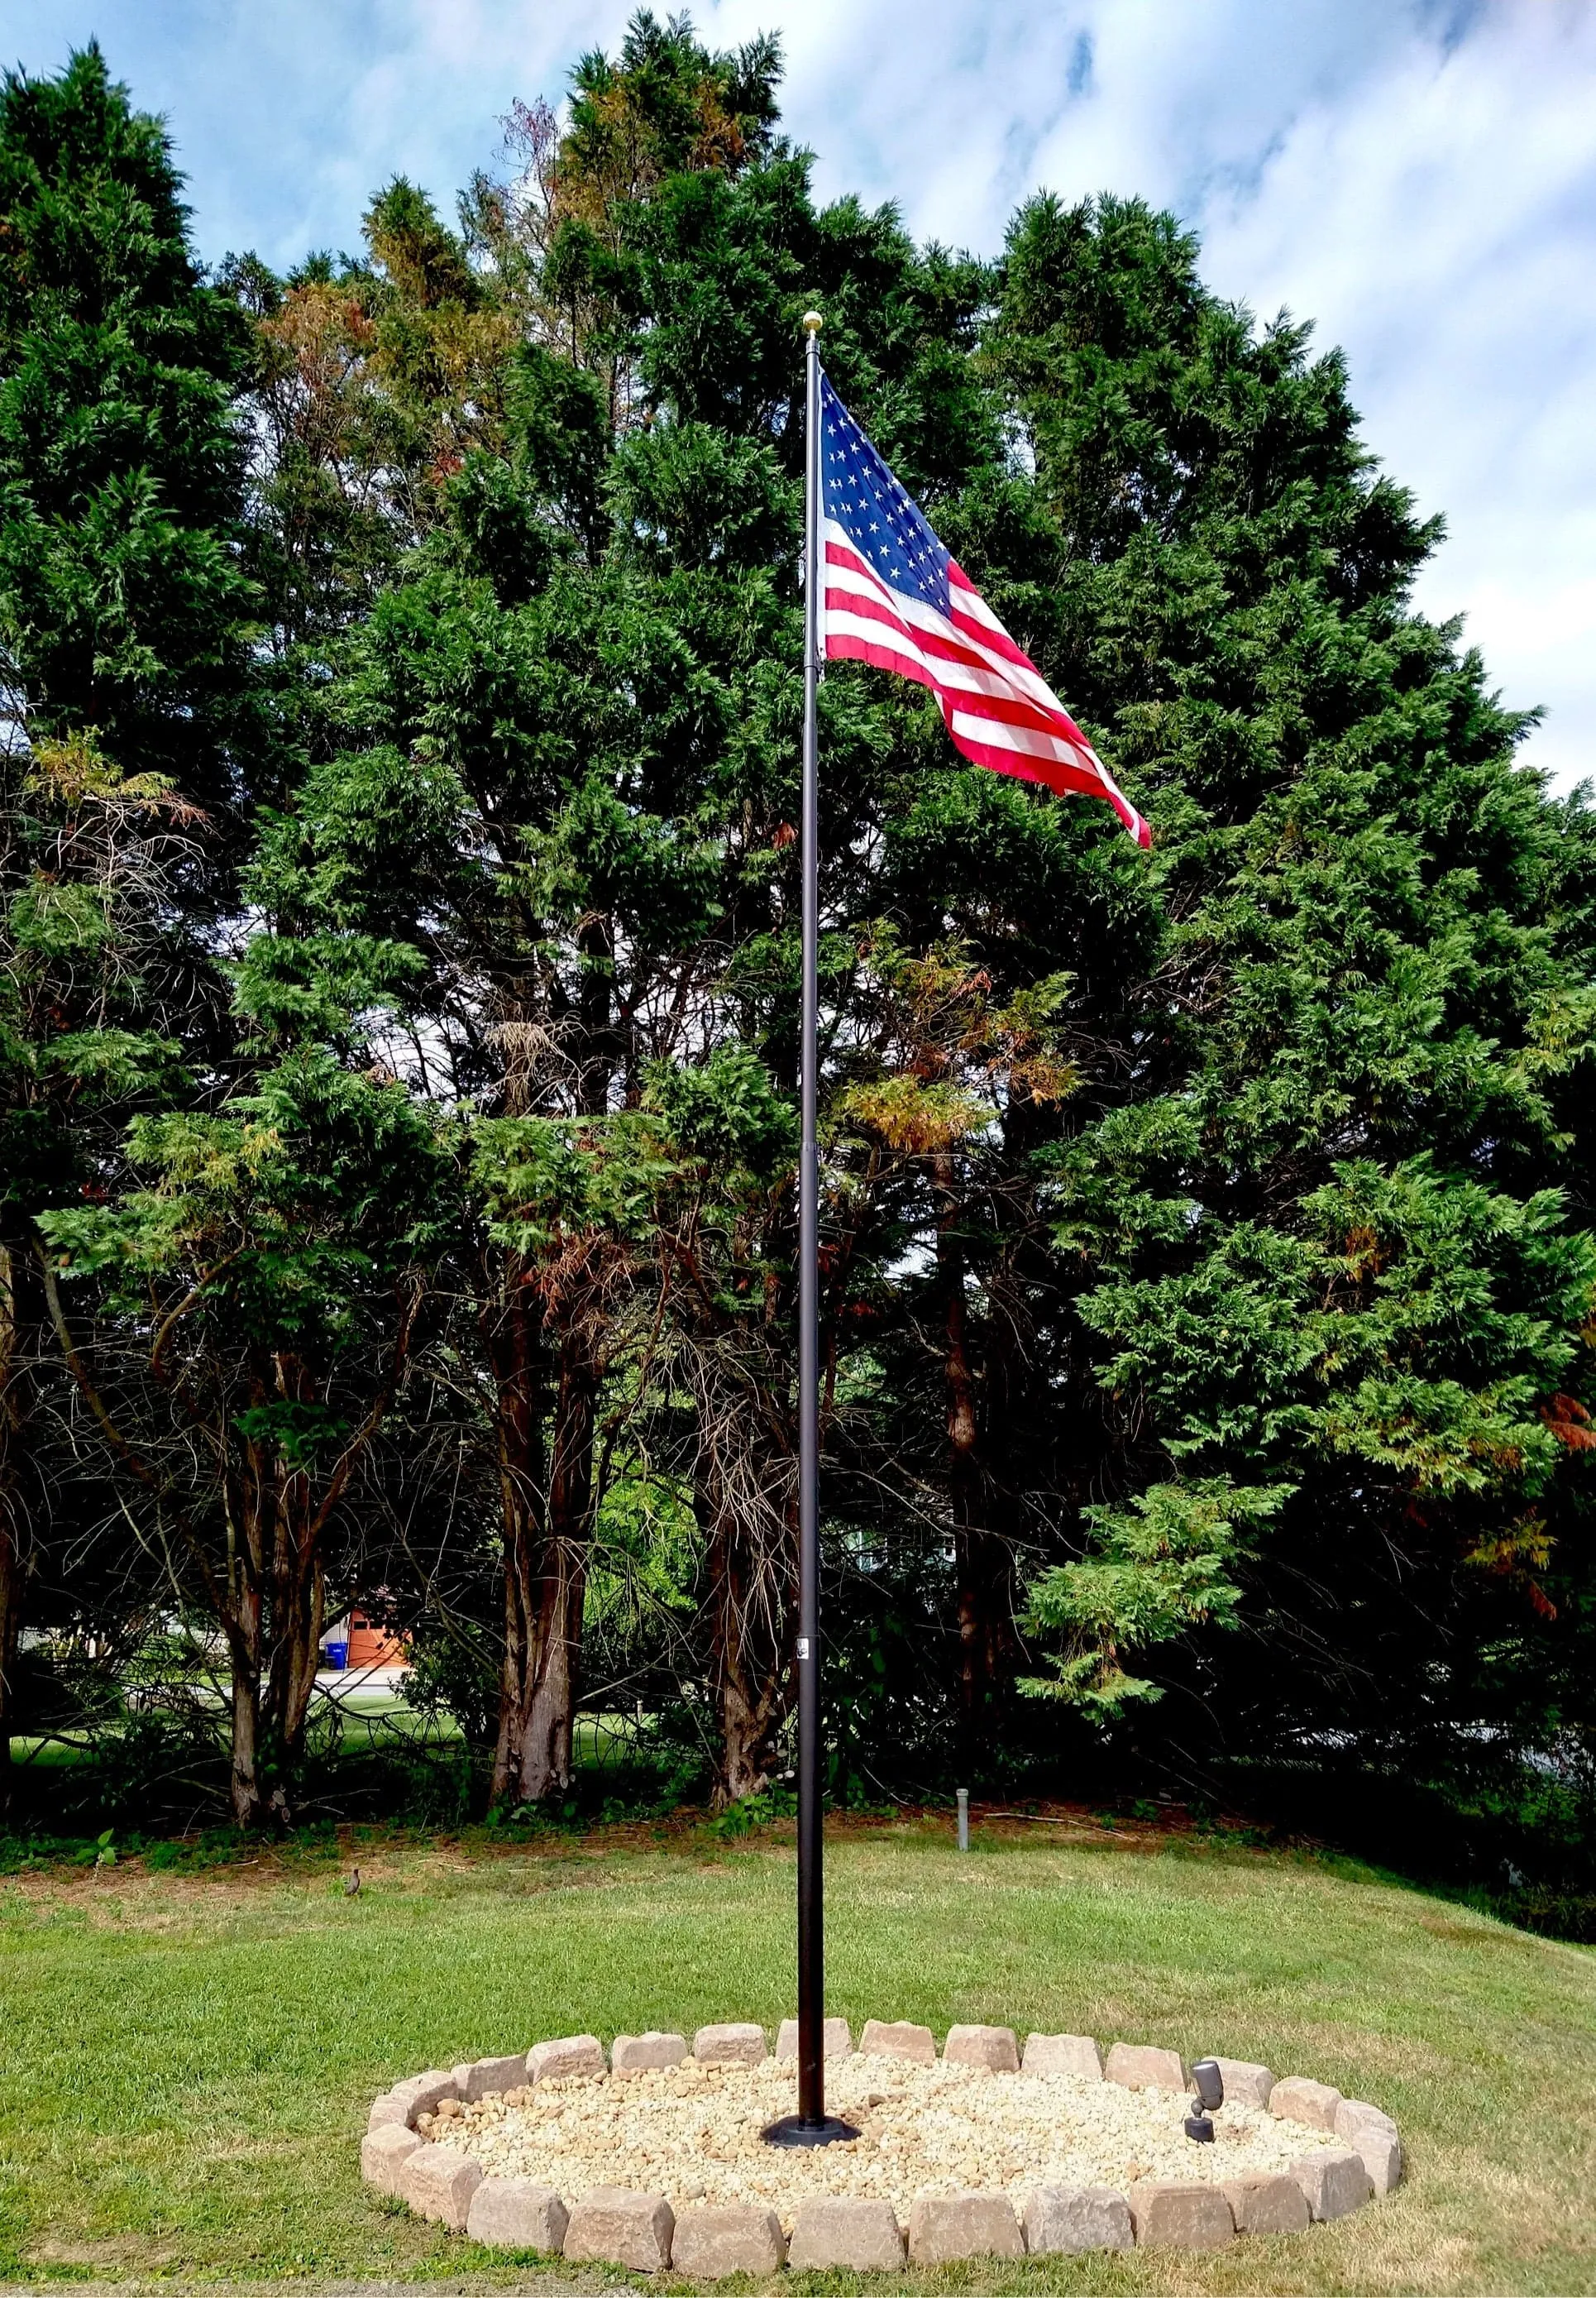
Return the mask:
[(774, 2146), (829, 2146), (859, 2133), (827, 2114), (824, 1836), (820, 1804), (820, 313), (804, 313), (804, 1013), (799, 1043), (799, 2110)]

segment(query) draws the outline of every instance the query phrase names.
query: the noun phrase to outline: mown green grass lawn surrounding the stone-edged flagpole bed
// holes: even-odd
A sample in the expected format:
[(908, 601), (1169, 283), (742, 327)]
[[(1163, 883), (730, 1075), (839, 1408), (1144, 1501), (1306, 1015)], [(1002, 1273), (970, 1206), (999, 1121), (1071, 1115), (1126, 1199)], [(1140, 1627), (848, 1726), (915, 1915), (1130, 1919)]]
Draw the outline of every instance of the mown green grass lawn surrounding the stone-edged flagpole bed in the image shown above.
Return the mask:
[[(372, 1836), (351, 1854), (358, 1898), (338, 1857), (292, 1852), (0, 1884), (0, 2275), (505, 2280), (361, 2188), (374, 2091), (547, 2034), (792, 2006), (790, 1841)], [(854, 2029), (997, 2020), (1263, 2059), (1373, 2098), (1408, 2142), (1399, 2195), (1309, 2236), (905, 2289), (1596, 2287), (1587, 1949), (1348, 1864), (1091, 1822), (981, 1832), (960, 1857), (912, 1820), (831, 1841), (829, 1992)]]

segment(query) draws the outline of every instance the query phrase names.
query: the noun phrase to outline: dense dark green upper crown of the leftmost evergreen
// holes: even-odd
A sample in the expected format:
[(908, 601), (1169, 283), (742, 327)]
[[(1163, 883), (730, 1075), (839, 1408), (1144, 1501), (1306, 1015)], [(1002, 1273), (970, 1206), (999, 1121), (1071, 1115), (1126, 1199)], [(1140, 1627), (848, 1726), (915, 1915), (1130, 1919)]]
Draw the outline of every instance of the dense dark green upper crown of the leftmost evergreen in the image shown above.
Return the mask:
[(96, 46), (0, 92), (0, 634), (48, 735), (220, 797), (253, 609), (246, 342), (188, 253), (165, 131)]

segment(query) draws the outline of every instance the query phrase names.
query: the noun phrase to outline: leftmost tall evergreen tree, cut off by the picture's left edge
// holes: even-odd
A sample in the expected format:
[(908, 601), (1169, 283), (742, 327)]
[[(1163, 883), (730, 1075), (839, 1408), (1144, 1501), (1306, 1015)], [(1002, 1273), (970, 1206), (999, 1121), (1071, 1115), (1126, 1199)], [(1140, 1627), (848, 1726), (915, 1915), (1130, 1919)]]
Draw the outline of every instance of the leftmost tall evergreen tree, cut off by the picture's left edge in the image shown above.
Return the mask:
[(108, 1183), (126, 1115), (216, 1013), (200, 935), (243, 797), (250, 593), (237, 315), (99, 48), (5, 78), (0, 214), (2, 1779), (23, 1565), (57, 1501), (34, 1220)]

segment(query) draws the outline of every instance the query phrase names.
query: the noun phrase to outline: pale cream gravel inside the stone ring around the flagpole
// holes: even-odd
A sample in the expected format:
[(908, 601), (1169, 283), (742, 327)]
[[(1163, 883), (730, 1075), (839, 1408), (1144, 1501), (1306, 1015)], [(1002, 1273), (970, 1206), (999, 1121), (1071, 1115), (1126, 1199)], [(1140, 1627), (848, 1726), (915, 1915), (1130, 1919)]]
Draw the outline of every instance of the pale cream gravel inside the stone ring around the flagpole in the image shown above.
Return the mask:
[(1137, 2179), (1235, 2179), (1286, 2169), (1341, 2139), (1261, 2107), (1215, 2114), (1215, 2144), (1180, 2128), (1183, 2091), (1130, 2091), (1075, 2075), (990, 2075), (905, 2059), (827, 2061), (827, 2107), (859, 2137), (822, 2149), (765, 2146), (760, 2130), (797, 2107), (790, 2061), (588, 2075), (489, 2096), (439, 2116), (434, 2139), (475, 2156), (489, 2176), (537, 2179), (567, 2201), (629, 2185), (684, 2201), (762, 2201), (783, 2227), (806, 2195), (880, 2195), (907, 2220), (916, 2195), (969, 2188), (1020, 2199), (1033, 2185)]

